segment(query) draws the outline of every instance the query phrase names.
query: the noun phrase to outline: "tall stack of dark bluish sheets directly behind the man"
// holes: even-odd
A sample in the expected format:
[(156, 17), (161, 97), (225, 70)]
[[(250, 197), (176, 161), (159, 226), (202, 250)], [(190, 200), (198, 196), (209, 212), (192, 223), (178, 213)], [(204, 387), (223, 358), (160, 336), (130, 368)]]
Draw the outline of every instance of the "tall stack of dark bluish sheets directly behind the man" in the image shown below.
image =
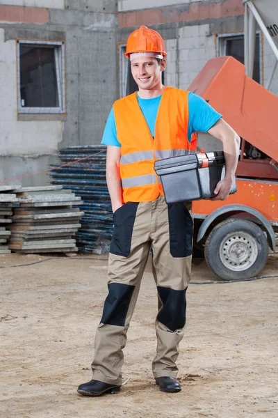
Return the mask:
[[(106, 185), (106, 147), (67, 147), (60, 150), (59, 157), (60, 163), (51, 171), (52, 184), (72, 189), (83, 200), (80, 208), (85, 215), (81, 218), (81, 229), (76, 233), (79, 251), (108, 251), (113, 231), (113, 214)], [(85, 160), (58, 168), (82, 158)]]

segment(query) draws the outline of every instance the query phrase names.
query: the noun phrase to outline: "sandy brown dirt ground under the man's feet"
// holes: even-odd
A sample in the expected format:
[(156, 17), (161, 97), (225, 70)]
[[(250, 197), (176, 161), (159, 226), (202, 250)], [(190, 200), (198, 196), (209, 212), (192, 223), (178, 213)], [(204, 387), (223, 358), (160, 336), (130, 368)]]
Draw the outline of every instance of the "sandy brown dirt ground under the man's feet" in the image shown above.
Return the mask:
[[(278, 274), (276, 257), (262, 274)], [(44, 258), (11, 254), (0, 256), (0, 266)], [(126, 384), (120, 394), (79, 396), (76, 387), (91, 378), (106, 270), (106, 256), (0, 268), (1, 418), (278, 417), (278, 278), (190, 285), (182, 391), (165, 394), (152, 377), (156, 288), (149, 264), (125, 348)], [(215, 276), (196, 259), (193, 281), (204, 280)]]

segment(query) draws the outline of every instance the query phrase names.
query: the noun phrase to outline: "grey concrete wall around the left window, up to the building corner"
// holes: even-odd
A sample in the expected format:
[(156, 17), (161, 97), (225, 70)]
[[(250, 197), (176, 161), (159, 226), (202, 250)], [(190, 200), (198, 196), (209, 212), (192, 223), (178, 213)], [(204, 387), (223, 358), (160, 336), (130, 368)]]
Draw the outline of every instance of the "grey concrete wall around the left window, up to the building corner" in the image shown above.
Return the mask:
[[(61, 147), (99, 144), (117, 98), (115, 1), (9, 3), (0, 4), (0, 97), (5, 98), (0, 101), (0, 181), (47, 169)], [(42, 3), (43, 8), (14, 6)], [(16, 38), (65, 41), (65, 116), (17, 115)], [(39, 175), (22, 183), (47, 180)]]

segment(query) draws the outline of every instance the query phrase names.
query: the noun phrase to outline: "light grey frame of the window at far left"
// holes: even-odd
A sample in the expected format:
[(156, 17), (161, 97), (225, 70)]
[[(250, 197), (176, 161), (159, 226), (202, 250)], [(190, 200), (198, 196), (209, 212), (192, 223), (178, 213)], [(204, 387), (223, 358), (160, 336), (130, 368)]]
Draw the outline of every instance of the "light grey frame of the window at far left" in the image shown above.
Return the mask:
[[(20, 45), (54, 47), (58, 107), (22, 106), (20, 94)], [(17, 39), (17, 114), (65, 114), (65, 41)]]

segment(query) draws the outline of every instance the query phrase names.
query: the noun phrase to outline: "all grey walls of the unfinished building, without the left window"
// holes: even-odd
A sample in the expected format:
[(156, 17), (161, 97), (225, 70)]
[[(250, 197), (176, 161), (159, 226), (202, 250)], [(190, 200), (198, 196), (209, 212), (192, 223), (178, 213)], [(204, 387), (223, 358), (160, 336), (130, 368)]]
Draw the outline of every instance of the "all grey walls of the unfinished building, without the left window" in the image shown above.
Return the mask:
[[(5, 4), (3, 4), (5, 2)], [(0, 181), (47, 169), (59, 148), (99, 144), (119, 96), (117, 42), (145, 24), (166, 42), (166, 83), (188, 88), (217, 56), (219, 33), (243, 31), (242, 0), (0, 0)], [(66, 114), (17, 115), (16, 38), (65, 41)], [(263, 83), (275, 58), (262, 43)], [(271, 91), (278, 95), (278, 70)], [(24, 185), (46, 183), (32, 176)], [(17, 183), (17, 181), (15, 181)]]

